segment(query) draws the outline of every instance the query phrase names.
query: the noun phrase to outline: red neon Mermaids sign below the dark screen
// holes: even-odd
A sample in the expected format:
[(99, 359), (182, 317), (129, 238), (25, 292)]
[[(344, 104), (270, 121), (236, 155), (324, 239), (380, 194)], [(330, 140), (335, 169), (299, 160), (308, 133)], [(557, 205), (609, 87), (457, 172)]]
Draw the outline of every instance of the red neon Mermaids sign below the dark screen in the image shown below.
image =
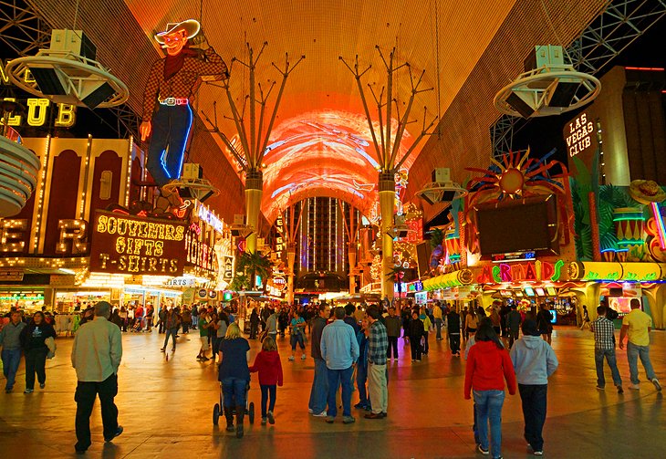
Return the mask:
[(562, 276), (562, 266), (564, 266), (562, 260), (557, 260), (555, 264), (537, 260), (527, 263), (488, 265), (484, 266), (483, 272), (476, 278), (476, 281), (479, 284), (543, 280), (557, 282)]

